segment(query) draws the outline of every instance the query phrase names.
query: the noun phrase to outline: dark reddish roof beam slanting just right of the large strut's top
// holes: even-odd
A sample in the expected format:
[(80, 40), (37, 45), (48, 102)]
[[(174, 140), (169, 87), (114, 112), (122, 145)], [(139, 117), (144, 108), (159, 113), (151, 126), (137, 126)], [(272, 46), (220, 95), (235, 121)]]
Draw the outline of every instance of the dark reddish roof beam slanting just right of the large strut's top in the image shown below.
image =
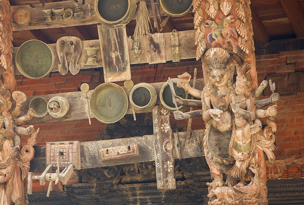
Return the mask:
[(252, 5), (250, 5), (251, 9), (251, 17), (252, 17), (252, 28), (253, 28), (253, 38), (254, 38), (254, 43), (266, 43), (269, 41), (269, 35), (268, 32), (260, 20), (259, 16), (255, 12), (254, 8)]

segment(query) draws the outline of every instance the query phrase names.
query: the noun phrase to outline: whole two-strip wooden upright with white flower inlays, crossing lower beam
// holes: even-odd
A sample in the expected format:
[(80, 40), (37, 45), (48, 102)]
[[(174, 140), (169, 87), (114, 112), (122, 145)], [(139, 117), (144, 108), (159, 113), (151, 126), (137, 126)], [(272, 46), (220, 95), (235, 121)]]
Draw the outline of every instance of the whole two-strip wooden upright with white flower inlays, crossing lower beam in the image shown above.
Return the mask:
[(170, 112), (162, 106), (154, 106), (152, 115), (157, 189), (176, 189)]

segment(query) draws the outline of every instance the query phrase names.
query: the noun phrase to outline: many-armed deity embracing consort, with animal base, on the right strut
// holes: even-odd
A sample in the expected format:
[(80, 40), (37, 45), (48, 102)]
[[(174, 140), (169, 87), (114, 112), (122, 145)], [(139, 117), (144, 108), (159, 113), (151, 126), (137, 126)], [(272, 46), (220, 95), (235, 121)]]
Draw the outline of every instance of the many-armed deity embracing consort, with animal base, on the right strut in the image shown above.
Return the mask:
[[(226, 201), (230, 204), (266, 204), (266, 168), (264, 152), (274, 159), (272, 151), (275, 136), (276, 105), (261, 110), (279, 100), (278, 94), (255, 101), (252, 96), (250, 64), (242, 67), (231, 60), (223, 48), (214, 47), (206, 51), (203, 67), (207, 69), (209, 82), (202, 91), (191, 87), (189, 74), (180, 77), (178, 87), (201, 99), (183, 100), (175, 97), (180, 105), (201, 107), (202, 110), (182, 113), (174, 112), (176, 119), (202, 117), (206, 124), (204, 152), (209, 165), (212, 182), (209, 186), (210, 204)], [(233, 73), (237, 69), (237, 81)], [(235, 88), (234, 88), (235, 87)], [(261, 89), (258, 89), (261, 93)], [(259, 118), (267, 117), (268, 126), (261, 131)], [(270, 134), (267, 134), (270, 133)], [(264, 151), (264, 152), (263, 152)], [(226, 181), (224, 181), (226, 175)], [(250, 182), (246, 186), (246, 182)], [(228, 203), (229, 202), (229, 203)], [(237, 203), (236, 203), (237, 202)]]

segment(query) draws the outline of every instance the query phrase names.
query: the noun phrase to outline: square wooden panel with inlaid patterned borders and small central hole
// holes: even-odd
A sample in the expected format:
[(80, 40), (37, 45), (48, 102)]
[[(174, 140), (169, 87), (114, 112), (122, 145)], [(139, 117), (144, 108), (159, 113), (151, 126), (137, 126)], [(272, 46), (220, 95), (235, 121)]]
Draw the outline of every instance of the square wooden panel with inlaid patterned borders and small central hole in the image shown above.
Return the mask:
[(80, 142), (47, 142), (46, 143), (46, 164), (57, 164), (64, 169), (70, 164), (74, 164), (74, 170), (80, 168)]

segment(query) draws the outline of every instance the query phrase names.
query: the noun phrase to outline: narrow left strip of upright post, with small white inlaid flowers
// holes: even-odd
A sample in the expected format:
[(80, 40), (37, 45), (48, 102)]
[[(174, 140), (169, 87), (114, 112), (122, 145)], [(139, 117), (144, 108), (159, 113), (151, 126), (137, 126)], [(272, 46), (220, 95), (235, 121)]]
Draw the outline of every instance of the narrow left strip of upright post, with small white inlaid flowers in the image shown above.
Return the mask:
[(153, 115), (153, 133), (155, 137), (155, 167), (156, 167), (156, 180), (157, 189), (164, 189), (164, 176), (163, 176), (163, 159), (162, 159), (162, 148), (161, 148), (161, 134), (159, 128), (159, 114), (158, 106), (152, 108)]

